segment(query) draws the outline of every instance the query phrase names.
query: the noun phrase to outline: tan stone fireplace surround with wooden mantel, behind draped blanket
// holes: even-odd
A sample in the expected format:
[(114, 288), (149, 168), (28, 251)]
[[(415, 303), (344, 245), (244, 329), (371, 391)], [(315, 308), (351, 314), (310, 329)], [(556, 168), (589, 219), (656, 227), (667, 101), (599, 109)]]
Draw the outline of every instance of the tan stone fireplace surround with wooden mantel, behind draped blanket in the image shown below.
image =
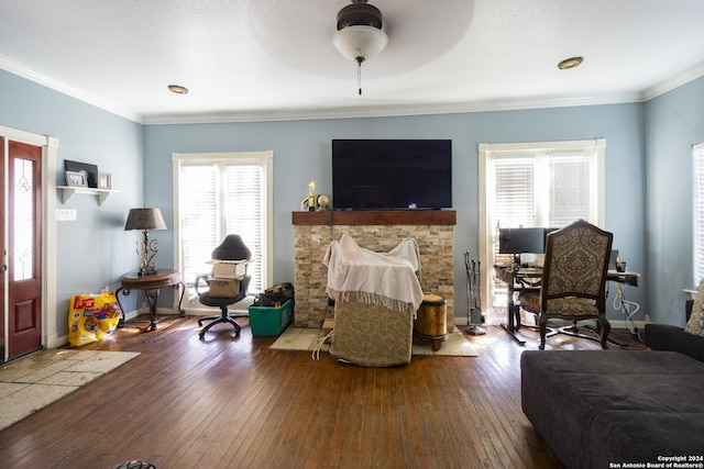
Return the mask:
[[(388, 252), (413, 237), (420, 248), (424, 292), (448, 301), (454, 317), (453, 210), (293, 212), (296, 327), (320, 328), (328, 312), (328, 269), (322, 258), (330, 242), (346, 232), (366, 249)], [(448, 325), (450, 326), (450, 325)]]

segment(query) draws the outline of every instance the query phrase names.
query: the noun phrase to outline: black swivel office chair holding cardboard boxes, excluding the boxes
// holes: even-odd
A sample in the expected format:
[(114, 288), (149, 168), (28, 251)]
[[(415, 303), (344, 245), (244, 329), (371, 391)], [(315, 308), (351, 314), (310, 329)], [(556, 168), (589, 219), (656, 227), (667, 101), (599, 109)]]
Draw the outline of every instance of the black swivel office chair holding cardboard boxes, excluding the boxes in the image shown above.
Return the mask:
[[(250, 260), (252, 257), (252, 253), (244, 245), (240, 235), (228, 235), (222, 244), (212, 252), (212, 259), (218, 260)], [(234, 297), (211, 297), (210, 290), (206, 290), (204, 292), (200, 291), (200, 282), (202, 281), (205, 284), (208, 284), (210, 279), (210, 275), (202, 275), (196, 278), (196, 293), (198, 293), (198, 300), (206, 306), (217, 306), (220, 308), (220, 315), (218, 316), (207, 316), (198, 320), (198, 325), (202, 326), (202, 323), (206, 321), (211, 321), (208, 325), (206, 325), (202, 330), (200, 330), (200, 338), (206, 335), (206, 332), (210, 327), (219, 323), (230, 323), (234, 327), (234, 336), (238, 337), (240, 335), (240, 324), (238, 324), (234, 320), (239, 317), (249, 317), (246, 313), (232, 314), (228, 311), (228, 306), (234, 303), (239, 303), (244, 300), (246, 297), (246, 289), (250, 286), (251, 276), (246, 275), (246, 264), (244, 264), (244, 278), (240, 281), (240, 291)]]

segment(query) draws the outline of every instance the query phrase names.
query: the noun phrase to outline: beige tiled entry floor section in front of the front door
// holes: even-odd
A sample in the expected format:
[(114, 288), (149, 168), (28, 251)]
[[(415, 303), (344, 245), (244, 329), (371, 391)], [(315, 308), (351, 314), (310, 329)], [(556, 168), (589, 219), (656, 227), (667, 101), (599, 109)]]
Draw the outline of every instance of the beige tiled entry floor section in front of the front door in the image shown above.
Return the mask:
[(139, 355), (57, 348), (0, 366), (0, 431)]

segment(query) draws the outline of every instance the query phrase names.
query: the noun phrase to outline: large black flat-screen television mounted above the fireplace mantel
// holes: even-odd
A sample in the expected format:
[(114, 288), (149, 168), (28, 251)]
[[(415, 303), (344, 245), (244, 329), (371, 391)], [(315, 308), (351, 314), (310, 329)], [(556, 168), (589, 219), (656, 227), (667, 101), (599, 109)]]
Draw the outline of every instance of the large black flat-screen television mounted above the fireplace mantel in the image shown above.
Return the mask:
[(332, 206), (452, 208), (452, 141), (333, 139)]

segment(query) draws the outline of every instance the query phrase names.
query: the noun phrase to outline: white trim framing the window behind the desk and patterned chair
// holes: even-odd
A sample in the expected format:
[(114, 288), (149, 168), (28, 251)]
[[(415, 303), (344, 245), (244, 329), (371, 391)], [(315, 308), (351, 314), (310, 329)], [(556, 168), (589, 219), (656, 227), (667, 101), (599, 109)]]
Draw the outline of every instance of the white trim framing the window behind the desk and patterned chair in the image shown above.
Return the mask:
[[(493, 270), (493, 234), (495, 226), (492, 226), (492, 214), (487, 210), (487, 193), (493, 191), (494, 180), (487, 177), (490, 159), (501, 154), (534, 154), (535, 152), (566, 152), (583, 150), (593, 148), (596, 154), (596, 175), (595, 183), (597, 202), (595, 205), (596, 213), (593, 220), (596, 225), (604, 227), (606, 213), (606, 164), (605, 164), (605, 138), (594, 138), (586, 141), (565, 141), (565, 142), (531, 142), (531, 143), (508, 143), (508, 144), (479, 144), (480, 156), (480, 193), (479, 193), (479, 212), (480, 212), (480, 263), (482, 275), (482, 311), (488, 311), (490, 304), (490, 279)], [(491, 179), (491, 180), (490, 180)]]

